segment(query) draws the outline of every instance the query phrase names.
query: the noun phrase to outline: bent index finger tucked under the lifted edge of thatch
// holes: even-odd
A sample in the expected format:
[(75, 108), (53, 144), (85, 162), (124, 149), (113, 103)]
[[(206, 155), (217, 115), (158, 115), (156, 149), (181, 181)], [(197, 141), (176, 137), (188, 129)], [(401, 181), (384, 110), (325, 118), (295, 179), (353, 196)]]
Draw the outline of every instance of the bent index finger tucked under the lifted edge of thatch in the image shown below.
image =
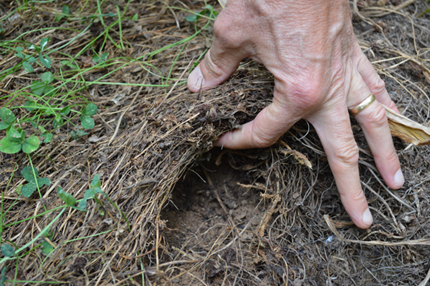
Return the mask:
[(229, 149), (264, 148), (275, 143), (297, 120), (286, 107), (274, 99), (257, 117), (237, 129), (222, 135), (215, 146)]

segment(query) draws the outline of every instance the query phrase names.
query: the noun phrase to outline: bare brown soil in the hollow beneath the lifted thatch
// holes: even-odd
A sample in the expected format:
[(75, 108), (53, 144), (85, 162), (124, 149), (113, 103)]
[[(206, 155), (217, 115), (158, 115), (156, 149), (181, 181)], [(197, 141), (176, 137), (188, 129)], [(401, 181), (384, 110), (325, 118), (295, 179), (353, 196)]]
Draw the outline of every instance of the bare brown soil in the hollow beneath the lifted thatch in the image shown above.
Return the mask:
[[(259, 207), (260, 191), (239, 185), (251, 181), (246, 172), (233, 169), (227, 162), (216, 166), (214, 157), (218, 155), (219, 152), (205, 154), (212, 160), (201, 160), (185, 174), (162, 211), (161, 218), (166, 223), (163, 234), (171, 252), (177, 254), (175, 260), (198, 260), (202, 254), (218, 252), (218, 259), (204, 263), (199, 271), (190, 268), (189, 275), (178, 278), (174, 278), (177, 272), (169, 273), (174, 285), (195, 285), (198, 278), (221, 285), (228, 268), (241, 268), (244, 264), (248, 271), (255, 272), (257, 268), (248, 260), (251, 257), (248, 252), (252, 250), (246, 249), (244, 243), (255, 238), (252, 230), (263, 215), (264, 207)], [(226, 245), (232, 235), (237, 238), (236, 243)], [(220, 251), (217, 245), (225, 247)], [(261, 272), (260, 276), (264, 278), (267, 273)]]

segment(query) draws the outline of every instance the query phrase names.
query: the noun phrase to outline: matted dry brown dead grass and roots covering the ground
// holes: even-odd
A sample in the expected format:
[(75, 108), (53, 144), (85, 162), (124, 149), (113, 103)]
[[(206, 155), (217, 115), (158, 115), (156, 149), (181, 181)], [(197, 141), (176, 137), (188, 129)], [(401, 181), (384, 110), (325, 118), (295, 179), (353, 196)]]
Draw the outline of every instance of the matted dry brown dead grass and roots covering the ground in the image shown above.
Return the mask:
[[(61, 11), (63, 3), (59, 2), (35, 3), (33, 10), (18, 12), (0, 35), (14, 39), (32, 27), (58, 25), (54, 18)], [(97, 7), (96, 1), (88, 2), (88, 7)], [(417, 122), (428, 122), (430, 16), (416, 18), (428, 4), (407, 1), (401, 8), (391, 6), (401, 2), (354, 1), (353, 21), (362, 48), (367, 49), (399, 110)], [(217, 7), (216, 1), (210, 4)], [(68, 1), (67, 5), (83, 4)], [(116, 5), (124, 9), (126, 3), (106, 1), (101, 9), (117, 11)], [(187, 39), (195, 33), (194, 23), (184, 20), (190, 13), (172, 7), (199, 12), (204, 5), (202, 1), (130, 3), (127, 16), (138, 13), (139, 18), (122, 23), (122, 37), (128, 43), (124, 51), (107, 42), (109, 58), (133, 59)], [(1, 15), (16, 8), (14, 3), (0, 3)], [(204, 21), (199, 20), (196, 26), (202, 28)], [(84, 29), (81, 21), (62, 25)], [(76, 36), (75, 30), (57, 29), (49, 35), (55, 44)], [(103, 30), (100, 22), (94, 22), (61, 52), (73, 54)], [(110, 35), (118, 41), (118, 27), (113, 27)], [(363, 189), (374, 215), (371, 229), (359, 230), (350, 223), (316, 133), (306, 122), (299, 122), (271, 148), (219, 155), (219, 161), (234, 161), (236, 168), (242, 167), (246, 179), (237, 183), (244, 193), (254, 190), (260, 195), (257, 223), (239, 223), (226, 214), (228, 218), (213, 241), (204, 241), (204, 235), (195, 233), (189, 234), (195, 239), (192, 246), (167, 242), (162, 212), (166, 205), (175, 203), (172, 191), (178, 180), (206, 156), (214, 139), (251, 120), (271, 101), (272, 77), (250, 61), (218, 88), (198, 94), (186, 89), (183, 81), (188, 70), (210, 46), (211, 35), (209, 26), (185, 45), (167, 48), (141, 62), (129, 60), (103, 80), (143, 84), (141, 87), (90, 84), (81, 91), (102, 110), (96, 117), (96, 128), (75, 141), (68, 135), (73, 126), (65, 125), (54, 135), (54, 144), (46, 144), (32, 155), (40, 174), (53, 184), (41, 190), (42, 198), (37, 194), (30, 199), (20, 197), (5, 223), (43, 213), (43, 205), (48, 209), (63, 205), (57, 186), (82, 198), (95, 174), (101, 176), (103, 191), (127, 221), (104, 197), (100, 197), (101, 206), (88, 202), (86, 213), (69, 208), (51, 226), (52, 239), (45, 238), (54, 252), (47, 256), (40, 248), (32, 249), (37, 244), (32, 245), (18, 262), (5, 263), (8, 279), (63, 285), (418, 285), (424, 281), (430, 268), (430, 252), (425, 246), (430, 231), (429, 147), (406, 149), (408, 144), (395, 139), (406, 184), (392, 191), (380, 178), (354, 122)], [(40, 31), (25, 35), (23, 40), (37, 42), (43, 36)], [(83, 54), (79, 64), (89, 64), (85, 60), (90, 56)], [(6, 67), (18, 61), (12, 55), (1, 57), (0, 64)], [(60, 62), (61, 54), (52, 57), (53, 69), (58, 69), (55, 63)], [(122, 64), (124, 61), (82, 76), (93, 82)], [(172, 66), (169, 87), (145, 86), (161, 84), (153, 67), (167, 76)], [(25, 87), (35, 76), (17, 70), (0, 82), (1, 106), (22, 104), (19, 97), (8, 102), (5, 96)], [(31, 126), (26, 128), (31, 131)], [(20, 170), (28, 164), (23, 155), (0, 154), (5, 209), (17, 198), (16, 188), (23, 182)], [(233, 208), (219, 194), (213, 199), (226, 213)], [(21, 247), (59, 212), (11, 225), (3, 230), (2, 240)], [(247, 239), (241, 239), (245, 234)], [(369, 243), (376, 241), (381, 243)]]

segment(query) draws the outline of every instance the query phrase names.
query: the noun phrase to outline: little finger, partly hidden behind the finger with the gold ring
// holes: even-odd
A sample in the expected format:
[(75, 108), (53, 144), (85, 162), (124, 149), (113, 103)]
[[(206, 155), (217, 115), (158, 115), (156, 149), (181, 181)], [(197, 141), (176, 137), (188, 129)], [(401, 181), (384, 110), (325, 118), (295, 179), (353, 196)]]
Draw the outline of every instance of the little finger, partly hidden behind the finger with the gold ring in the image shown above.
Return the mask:
[(358, 43), (355, 45), (354, 62), (363, 81), (366, 83), (370, 91), (375, 95), (376, 99), (385, 106), (388, 106), (394, 111), (400, 113), (394, 102), (391, 100), (387, 90), (385, 89), (384, 81), (377, 74), (373, 68), (372, 63), (364, 55)]

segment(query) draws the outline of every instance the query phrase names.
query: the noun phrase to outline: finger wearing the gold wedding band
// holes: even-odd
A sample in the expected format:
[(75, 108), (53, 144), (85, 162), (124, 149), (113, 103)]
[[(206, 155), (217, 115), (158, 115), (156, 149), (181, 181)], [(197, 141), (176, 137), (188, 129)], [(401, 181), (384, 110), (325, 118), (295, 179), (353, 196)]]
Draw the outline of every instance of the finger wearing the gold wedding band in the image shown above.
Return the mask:
[[(353, 76), (353, 79), (349, 95), (349, 98), (353, 99), (350, 99), (349, 102), (352, 100), (354, 103), (352, 105), (348, 104), (348, 106), (359, 104), (370, 94), (370, 90), (364, 84), (363, 80), (361, 80), (358, 72)], [(358, 99), (359, 102), (357, 103)], [(394, 148), (385, 109), (378, 101), (374, 101), (367, 108), (355, 115), (355, 119), (363, 129), (367, 143), (375, 159), (376, 167), (387, 185), (393, 189), (402, 187), (404, 178), (399, 158)]]

